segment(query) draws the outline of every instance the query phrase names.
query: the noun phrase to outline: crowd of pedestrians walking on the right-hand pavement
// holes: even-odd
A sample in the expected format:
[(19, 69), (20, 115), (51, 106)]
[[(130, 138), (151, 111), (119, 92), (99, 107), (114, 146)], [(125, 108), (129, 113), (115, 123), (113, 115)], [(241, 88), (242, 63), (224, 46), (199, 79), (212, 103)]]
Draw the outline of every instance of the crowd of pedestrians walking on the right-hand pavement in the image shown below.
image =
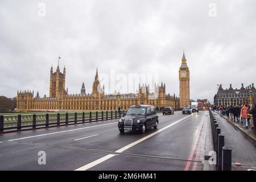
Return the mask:
[(214, 106), (214, 114), (218, 113), (226, 115), (232, 122), (238, 122), (241, 120), (243, 127), (248, 129), (249, 123), (251, 123), (251, 129), (256, 131), (256, 104), (249, 106), (247, 104), (237, 106)]

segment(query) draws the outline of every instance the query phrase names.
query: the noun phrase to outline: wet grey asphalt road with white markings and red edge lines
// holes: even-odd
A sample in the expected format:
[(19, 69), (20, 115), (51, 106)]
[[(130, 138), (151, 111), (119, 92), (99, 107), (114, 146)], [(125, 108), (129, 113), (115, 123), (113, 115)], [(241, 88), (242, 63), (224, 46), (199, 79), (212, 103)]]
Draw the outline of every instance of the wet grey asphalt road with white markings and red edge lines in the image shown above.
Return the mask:
[(159, 114), (145, 134), (121, 134), (117, 121), (2, 134), (0, 170), (203, 170), (207, 111)]

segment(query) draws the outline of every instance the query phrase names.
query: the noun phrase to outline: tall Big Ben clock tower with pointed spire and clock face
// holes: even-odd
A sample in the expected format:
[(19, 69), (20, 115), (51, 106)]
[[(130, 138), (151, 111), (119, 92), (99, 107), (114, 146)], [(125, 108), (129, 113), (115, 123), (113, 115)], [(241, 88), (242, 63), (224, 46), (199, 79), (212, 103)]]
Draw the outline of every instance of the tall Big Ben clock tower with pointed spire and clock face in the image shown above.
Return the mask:
[(187, 60), (185, 58), (185, 53), (183, 52), (183, 57), (181, 60), (181, 66), (179, 69), (179, 80), (180, 80), (180, 107), (185, 105), (191, 105), (189, 98), (189, 69), (187, 65)]

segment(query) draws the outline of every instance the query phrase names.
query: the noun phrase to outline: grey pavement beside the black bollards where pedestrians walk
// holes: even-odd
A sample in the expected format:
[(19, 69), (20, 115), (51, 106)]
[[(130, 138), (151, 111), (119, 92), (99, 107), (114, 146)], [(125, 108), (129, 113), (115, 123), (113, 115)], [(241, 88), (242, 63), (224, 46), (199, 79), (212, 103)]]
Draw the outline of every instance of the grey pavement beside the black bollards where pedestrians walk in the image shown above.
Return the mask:
[[(238, 129), (240, 126), (228, 122), (222, 115), (214, 114), (214, 117), (225, 135), (225, 146), (232, 149), (232, 171), (256, 169), (256, 142)], [(236, 163), (241, 166), (236, 166)]]

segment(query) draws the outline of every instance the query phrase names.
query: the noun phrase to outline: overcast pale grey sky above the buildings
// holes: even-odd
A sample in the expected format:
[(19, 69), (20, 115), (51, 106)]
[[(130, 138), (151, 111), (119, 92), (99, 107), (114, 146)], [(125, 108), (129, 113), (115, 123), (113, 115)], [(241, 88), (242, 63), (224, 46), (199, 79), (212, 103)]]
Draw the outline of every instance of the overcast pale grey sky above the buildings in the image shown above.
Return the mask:
[[(255, 82), (255, 7), (255, 0), (2, 0), (0, 95), (30, 89), (48, 96), (58, 56), (69, 93), (83, 81), (91, 93), (98, 68), (101, 80), (111, 71), (156, 75), (178, 94), (185, 49), (191, 98), (213, 101), (216, 84)], [(129, 92), (103, 80), (106, 93)]]

